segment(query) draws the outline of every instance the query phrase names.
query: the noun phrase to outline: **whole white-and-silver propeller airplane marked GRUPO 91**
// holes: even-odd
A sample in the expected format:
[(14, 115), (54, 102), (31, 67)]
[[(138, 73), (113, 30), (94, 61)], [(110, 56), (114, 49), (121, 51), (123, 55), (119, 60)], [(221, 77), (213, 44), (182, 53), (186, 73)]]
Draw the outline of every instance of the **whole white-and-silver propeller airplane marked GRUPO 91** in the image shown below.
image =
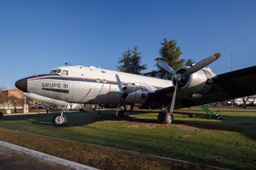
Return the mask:
[[(28, 92), (26, 97), (46, 103), (116, 105), (116, 114), (120, 116), (128, 115), (127, 111), (119, 111), (120, 105), (165, 107), (157, 119), (160, 123), (172, 123), (173, 109), (256, 94), (256, 66), (216, 75), (205, 66), (218, 58), (220, 54), (216, 53), (176, 71), (159, 60), (158, 65), (173, 76), (172, 81), (77, 65), (60, 66), (49, 74), (20, 79), (15, 86)], [(63, 111), (52, 118), (56, 126), (65, 121)]]

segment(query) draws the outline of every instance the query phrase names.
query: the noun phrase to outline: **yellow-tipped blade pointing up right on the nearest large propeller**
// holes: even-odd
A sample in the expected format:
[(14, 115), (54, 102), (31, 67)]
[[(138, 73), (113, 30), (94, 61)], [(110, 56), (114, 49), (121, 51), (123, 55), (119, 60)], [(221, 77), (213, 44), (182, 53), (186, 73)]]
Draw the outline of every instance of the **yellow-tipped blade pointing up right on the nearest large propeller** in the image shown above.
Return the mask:
[(220, 58), (220, 53), (216, 53), (212, 56), (209, 56), (208, 58), (203, 59), (199, 63), (196, 63), (194, 66), (191, 66), (191, 68), (189, 68), (186, 72), (184, 72), (182, 74), (182, 77), (191, 75), (191, 74), (197, 72), (198, 70), (201, 70), (205, 66), (207, 66), (207, 65), (211, 64), (212, 62), (216, 61), (218, 58)]

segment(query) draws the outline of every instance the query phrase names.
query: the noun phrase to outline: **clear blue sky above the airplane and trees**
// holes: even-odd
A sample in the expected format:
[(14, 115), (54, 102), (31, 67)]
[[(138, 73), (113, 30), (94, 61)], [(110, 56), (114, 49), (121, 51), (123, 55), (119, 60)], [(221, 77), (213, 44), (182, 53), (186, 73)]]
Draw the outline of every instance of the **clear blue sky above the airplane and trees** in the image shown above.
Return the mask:
[(0, 1), (0, 86), (65, 62), (116, 70), (138, 45), (154, 70), (163, 38), (182, 58), (221, 53), (216, 73), (256, 65), (256, 1)]

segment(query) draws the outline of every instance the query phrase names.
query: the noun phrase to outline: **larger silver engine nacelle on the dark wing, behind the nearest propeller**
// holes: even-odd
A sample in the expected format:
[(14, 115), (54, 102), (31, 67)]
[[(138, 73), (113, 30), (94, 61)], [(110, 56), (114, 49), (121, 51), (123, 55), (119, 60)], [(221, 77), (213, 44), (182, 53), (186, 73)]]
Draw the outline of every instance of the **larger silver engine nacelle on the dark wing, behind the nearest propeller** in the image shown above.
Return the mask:
[[(177, 73), (184, 73), (189, 67), (182, 67), (177, 70)], [(209, 91), (212, 86), (212, 77), (215, 74), (211, 72), (209, 68), (202, 68), (198, 72), (195, 72), (189, 76), (183, 77), (179, 82), (179, 89), (183, 91), (189, 91), (191, 98), (200, 98), (200, 95)], [(173, 79), (173, 84), (176, 85), (176, 81)]]

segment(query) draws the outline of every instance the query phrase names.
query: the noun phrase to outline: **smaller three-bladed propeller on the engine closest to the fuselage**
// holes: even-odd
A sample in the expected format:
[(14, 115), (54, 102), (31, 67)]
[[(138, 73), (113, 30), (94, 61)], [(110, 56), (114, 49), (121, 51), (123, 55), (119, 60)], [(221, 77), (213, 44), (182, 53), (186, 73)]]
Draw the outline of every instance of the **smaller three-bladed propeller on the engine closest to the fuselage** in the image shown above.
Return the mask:
[(120, 81), (120, 78), (119, 78), (119, 76), (117, 74), (116, 74), (116, 82), (117, 82), (118, 88), (120, 89), (119, 93), (121, 94), (120, 100), (118, 102), (118, 107), (116, 109), (116, 116), (117, 116), (118, 108), (120, 107), (120, 102), (121, 102), (122, 98), (125, 95), (128, 95), (129, 93), (137, 91), (139, 89), (139, 86), (131, 86), (129, 88), (123, 88), (123, 83)]

